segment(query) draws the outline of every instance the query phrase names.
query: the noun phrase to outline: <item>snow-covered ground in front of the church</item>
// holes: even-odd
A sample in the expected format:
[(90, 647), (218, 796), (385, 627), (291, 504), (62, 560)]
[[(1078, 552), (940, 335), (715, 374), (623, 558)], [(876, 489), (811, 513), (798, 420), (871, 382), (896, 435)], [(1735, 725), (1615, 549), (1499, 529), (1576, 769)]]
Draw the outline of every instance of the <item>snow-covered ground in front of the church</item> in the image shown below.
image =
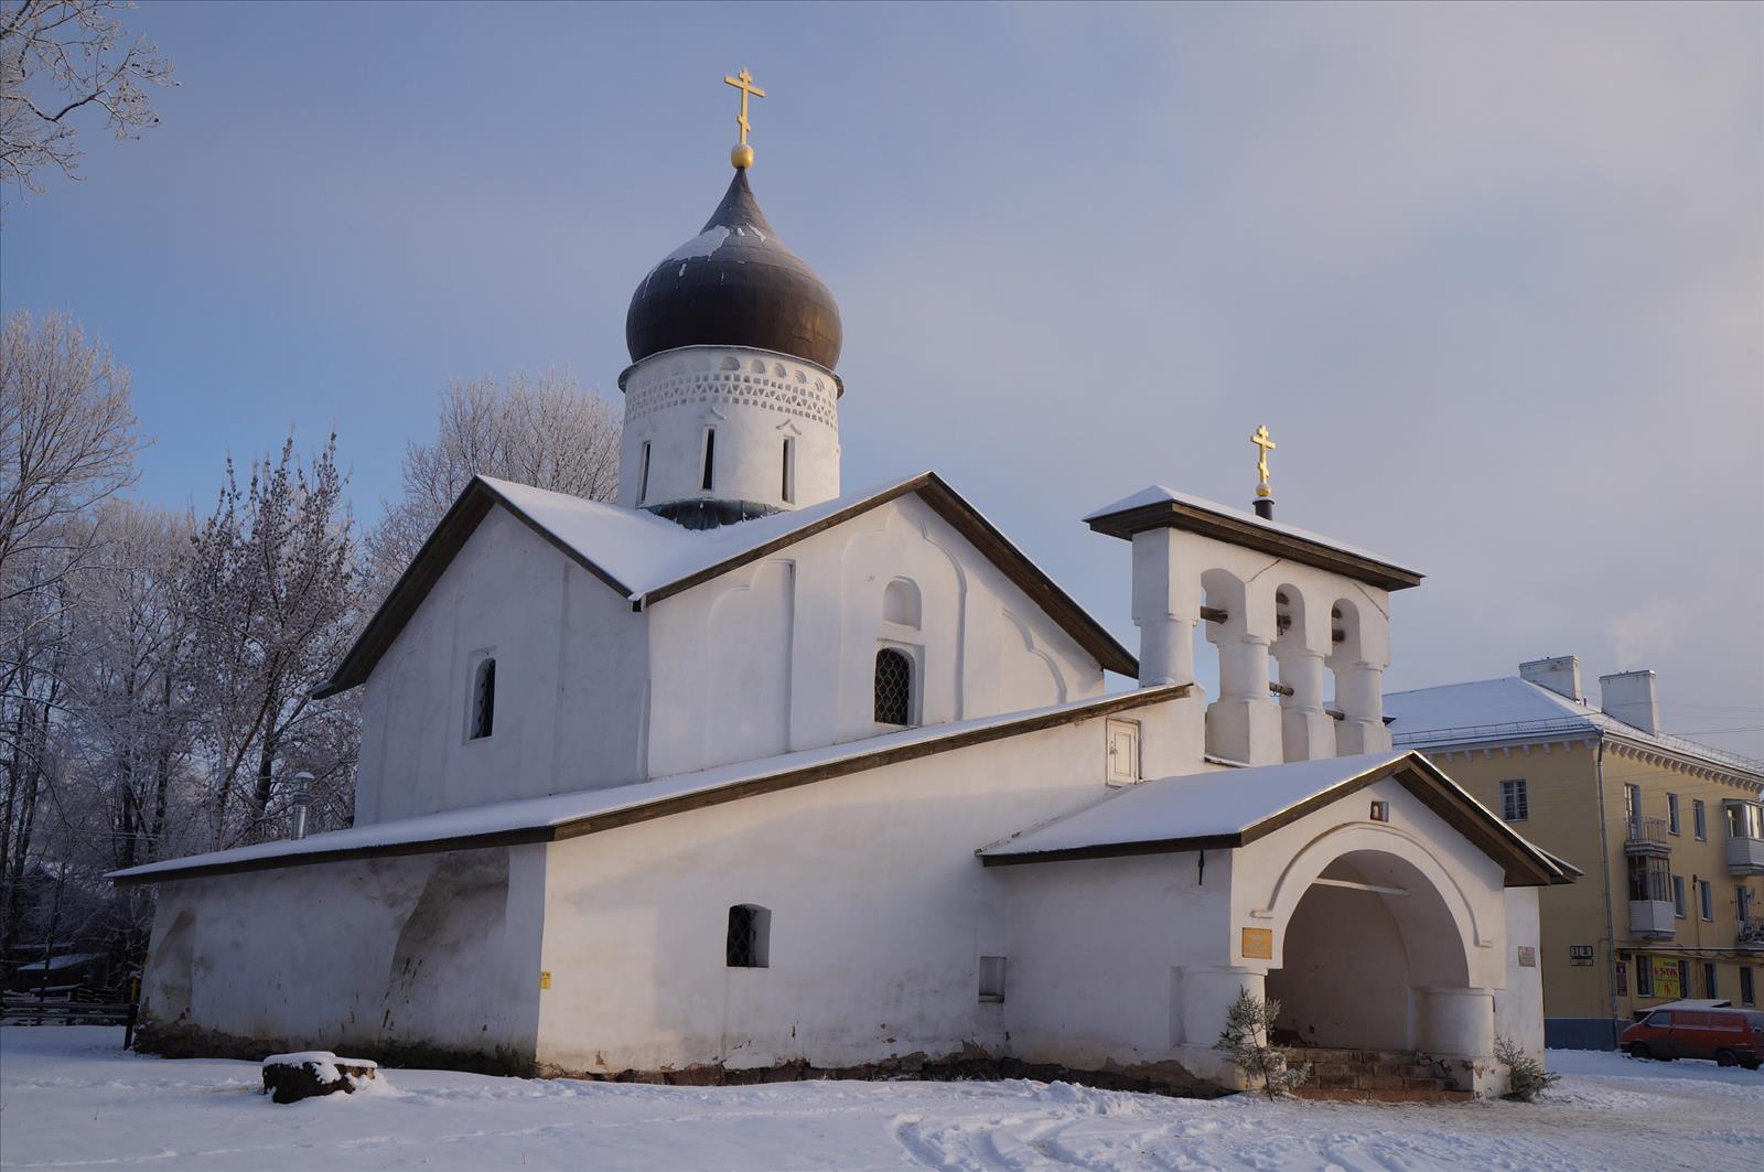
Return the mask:
[(1764, 1073), (1552, 1052), (1547, 1103), (1171, 1100), (1041, 1082), (649, 1087), (392, 1070), (277, 1107), (258, 1066), (0, 1029), (0, 1167), (1759, 1168)]

